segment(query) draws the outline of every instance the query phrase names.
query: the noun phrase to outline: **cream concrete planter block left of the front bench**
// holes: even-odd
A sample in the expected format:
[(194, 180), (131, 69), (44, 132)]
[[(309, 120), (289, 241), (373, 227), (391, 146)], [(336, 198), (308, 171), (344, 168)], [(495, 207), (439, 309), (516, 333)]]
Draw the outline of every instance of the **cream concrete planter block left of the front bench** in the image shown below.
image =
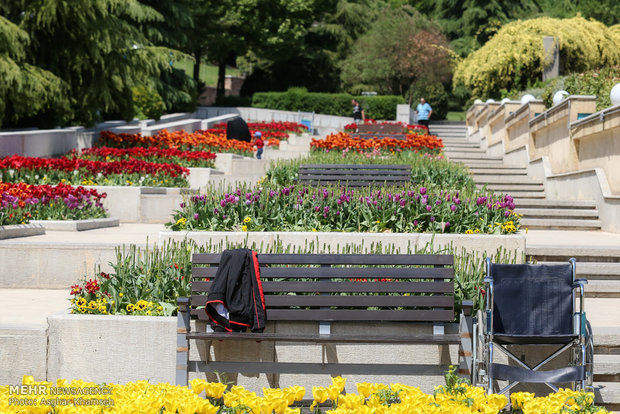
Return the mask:
[(48, 317), (47, 380), (174, 383), (176, 317)]

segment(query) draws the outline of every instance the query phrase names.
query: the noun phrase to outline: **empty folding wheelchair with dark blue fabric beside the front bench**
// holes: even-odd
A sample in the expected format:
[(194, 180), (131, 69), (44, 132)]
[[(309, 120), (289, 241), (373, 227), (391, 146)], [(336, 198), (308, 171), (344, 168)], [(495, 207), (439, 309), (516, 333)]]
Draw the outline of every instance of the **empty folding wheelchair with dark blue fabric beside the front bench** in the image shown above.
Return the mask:
[[(487, 258), (485, 268), (485, 308), (472, 326), (472, 384), (500, 394), (519, 383), (545, 384), (553, 392), (559, 383), (591, 391), (594, 343), (584, 311), (588, 282), (575, 278), (575, 259), (566, 264), (496, 264)], [(532, 364), (515, 355), (513, 345), (525, 350), (546, 345), (542, 349), (552, 351)], [(510, 365), (495, 362), (496, 351)], [(567, 366), (545, 369), (560, 355), (563, 361), (568, 356)], [(500, 389), (499, 381), (508, 385)]]

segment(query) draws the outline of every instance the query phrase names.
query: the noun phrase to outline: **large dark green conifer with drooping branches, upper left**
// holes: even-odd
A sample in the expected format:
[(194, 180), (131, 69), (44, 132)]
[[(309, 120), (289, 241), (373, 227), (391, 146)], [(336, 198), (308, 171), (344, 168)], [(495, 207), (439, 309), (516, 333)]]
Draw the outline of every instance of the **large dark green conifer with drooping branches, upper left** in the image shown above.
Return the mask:
[(137, 0), (33, 0), (21, 16), (31, 61), (69, 85), (67, 122), (90, 124), (99, 113), (133, 117), (132, 87), (170, 70), (172, 50), (139, 30), (163, 16)]

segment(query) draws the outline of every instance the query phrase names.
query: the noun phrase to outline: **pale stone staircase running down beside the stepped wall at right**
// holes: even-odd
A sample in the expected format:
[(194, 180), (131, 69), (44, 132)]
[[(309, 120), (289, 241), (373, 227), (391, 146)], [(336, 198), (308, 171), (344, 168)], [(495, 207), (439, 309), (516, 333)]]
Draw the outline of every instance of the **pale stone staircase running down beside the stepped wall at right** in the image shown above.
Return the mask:
[[(466, 140), (464, 124), (431, 125), (431, 133), (444, 140), (446, 158), (465, 164), (479, 187), (486, 185), (515, 198), (517, 211), (523, 214), (522, 228), (600, 231), (594, 201), (547, 200), (542, 181), (528, 178), (525, 166), (506, 165), (502, 157), (487, 156), (479, 144)], [(596, 401), (619, 410), (620, 326), (615, 315), (620, 309), (620, 245), (584, 247), (578, 239), (562, 246), (528, 244), (526, 256), (538, 263), (577, 259), (578, 277), (588, 279), (585, 306), (594, 331)]]

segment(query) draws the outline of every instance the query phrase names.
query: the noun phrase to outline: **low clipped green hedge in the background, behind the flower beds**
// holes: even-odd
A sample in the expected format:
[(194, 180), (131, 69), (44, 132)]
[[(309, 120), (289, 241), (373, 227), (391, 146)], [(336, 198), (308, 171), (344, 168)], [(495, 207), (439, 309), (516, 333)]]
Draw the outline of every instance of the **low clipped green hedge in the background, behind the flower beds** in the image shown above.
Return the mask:
[(286, 92), (257, 92), (252, 97), (252, 106), (353, 117), (351, 99), (360, 102), (366, 118), (385, 120), (396, 119), (396, 105), (405, 103), (401, 96), (356, 97), (347, 93), (317, 93), (291, 88)]

